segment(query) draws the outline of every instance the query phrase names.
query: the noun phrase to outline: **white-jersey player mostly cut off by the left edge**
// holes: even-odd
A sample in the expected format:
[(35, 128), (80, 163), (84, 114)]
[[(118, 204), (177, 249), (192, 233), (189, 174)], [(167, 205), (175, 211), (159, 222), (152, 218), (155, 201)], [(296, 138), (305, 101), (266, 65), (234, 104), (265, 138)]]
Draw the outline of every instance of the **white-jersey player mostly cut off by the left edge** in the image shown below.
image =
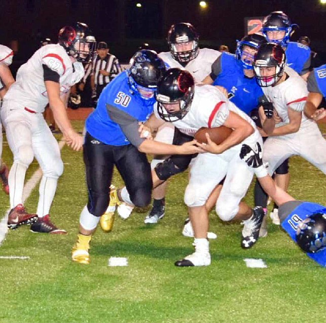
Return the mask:
[[(0, 45), (0, 99), (2, 100), (10, 86), (15, 82), (9, 69), (13, 61), (14, 53), (7, 46)], [(1, 107), (1, 103), (0, 103)], [(9, 169), (2, 160), (2, 123), (0, 121), (0, 180), (2, 180), (3, 190), (9, 194), (8, 175)]]

